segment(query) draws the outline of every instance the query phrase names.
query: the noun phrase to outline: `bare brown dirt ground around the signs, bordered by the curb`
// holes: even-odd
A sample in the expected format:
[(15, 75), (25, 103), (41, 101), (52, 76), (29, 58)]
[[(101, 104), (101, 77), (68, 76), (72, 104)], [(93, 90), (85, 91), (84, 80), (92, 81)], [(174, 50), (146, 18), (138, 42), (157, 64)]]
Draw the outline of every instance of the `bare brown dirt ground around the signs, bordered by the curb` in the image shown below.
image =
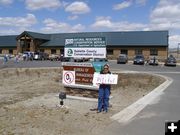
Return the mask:
[[(60, 68), (0, 70), (1, 135), (96, 135), (112, 122), (110, 117), (164, 82), (148, 74), (119, 74), (111, 90), (108, 113), (96, 113), (96, 101), (65, 99)], [(85, 93), (87, 94), (87, 93)], [(78, 94), (75, 94), (78, 96)]]

